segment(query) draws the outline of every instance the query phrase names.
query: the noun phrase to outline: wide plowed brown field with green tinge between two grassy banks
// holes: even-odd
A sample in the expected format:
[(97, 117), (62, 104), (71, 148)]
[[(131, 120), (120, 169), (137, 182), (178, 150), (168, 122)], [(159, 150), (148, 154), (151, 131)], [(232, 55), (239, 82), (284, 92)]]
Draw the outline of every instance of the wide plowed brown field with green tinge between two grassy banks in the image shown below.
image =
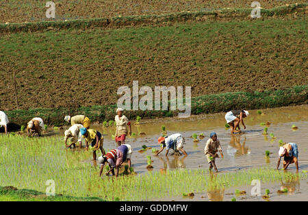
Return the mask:
[(120, 86), (192, 86), (192, 96), (307, 85), (305, 20), (10, 34), (0, 109), (114, 104)]

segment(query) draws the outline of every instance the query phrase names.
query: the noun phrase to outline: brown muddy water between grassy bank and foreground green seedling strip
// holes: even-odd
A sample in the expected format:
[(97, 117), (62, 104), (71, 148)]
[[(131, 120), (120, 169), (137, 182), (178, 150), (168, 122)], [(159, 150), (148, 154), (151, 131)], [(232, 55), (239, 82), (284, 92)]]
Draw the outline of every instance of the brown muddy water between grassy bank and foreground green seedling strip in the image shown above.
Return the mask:
[[(296, 107), (274, 108), (263, 110), (264, 114), (257, 114), (257, 110), (251, 110), (248, 118), (244, 119), (246, 130), (242, 128), (244, 134), (230, 134), (230, 130), (224, 128), (226, 123), (224, 113), (206, 114), (199, 116), (191, 116), (190, 118), (163, 118), (148, 121), (141, 121), (141, 125), (132, 126), (132, 132), (136, 133), (136, 137), (127, 138), (127, 143), (133, 147), (132, 162), (133, 167), (138, 173), (146, 172), (146, 155), (151, 155), (153, 160), (153, 170), (164, 170), (174, 168), (207, 168), (208, 164), (203, 153), (205, 137), (199, 142), (194, 142), (191, 138), (192, 134), (205, 134), (209, 136), (211, 131), (216, 131), (218, 139), (222, 145), (224, 159), (216, 159), (218, 170), (232, 171), (245, 168), (253, 168), (259, 166), (274, 167), (277, 164), (277, 153), (279, 150), (279, 139), (284, 142), (296, 142), (299, 149), (299, 165), (300, 169), (308, 169), (308, 105), (300, 105)], [(271, 138), (270, 135), (264, 136), (260, 123), (269, 121), (268, 134), (271, 132), (277, 138)], [(292, 125), (296, 125), (298, 129), (292, 129)], [(162, 134), (162, 125), (166, 126), (167, 134), (181, 133), (185, 138), (185, 151), (188, 157), (171, 155), (166, 157), (163, 151), (158, 157), (155, 157), (151, 149), (139, 153), (142, 145), (159, 149), (157, 138)], [(112, 140), (114, 129), (103, 128), (102, 126), (93, 126), (95, 129), (103, 132), (104, 148), (114, 149), (115, 143)], [(139, 136), (140, 132), (145, 136)], [(270, 157), (265, 158), (265, 151), (268, 150)], [(90, 157), (89, 157), (90, 160)], [(290, 170), (294, 170), (295, 166), (291, 165)]]

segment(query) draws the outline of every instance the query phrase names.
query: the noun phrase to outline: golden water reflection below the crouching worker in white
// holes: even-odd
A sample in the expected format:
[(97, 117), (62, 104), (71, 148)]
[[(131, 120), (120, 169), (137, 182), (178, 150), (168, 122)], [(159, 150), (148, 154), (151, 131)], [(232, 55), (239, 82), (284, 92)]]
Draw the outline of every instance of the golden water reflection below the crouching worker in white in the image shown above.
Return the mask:
[(248, 149), (248, 147), (245, 147), (246, 144), (246, 136), (244, 136), (244, 140), (241, 144), (241, 137), (242, 136), (235, 136), (231, 135), (230, 144), (227, 149), (227, 153), (231, 157), (236, 157), (240, 155), (245, 155), (247, 153), (251, 153), (251, 151)]

